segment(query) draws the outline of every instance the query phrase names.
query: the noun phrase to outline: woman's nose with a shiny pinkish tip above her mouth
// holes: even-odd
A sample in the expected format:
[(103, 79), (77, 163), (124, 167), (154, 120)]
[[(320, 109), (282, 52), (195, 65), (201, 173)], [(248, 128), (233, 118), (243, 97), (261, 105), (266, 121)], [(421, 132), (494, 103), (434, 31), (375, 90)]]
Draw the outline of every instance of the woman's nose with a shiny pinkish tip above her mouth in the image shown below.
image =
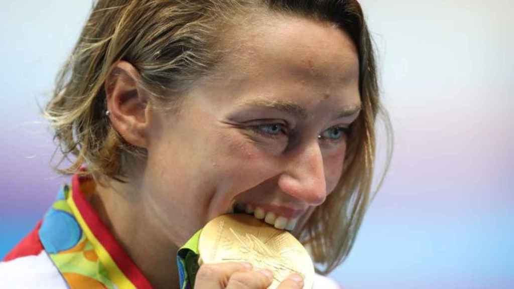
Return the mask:
[(278, 186), (284, 193), (311, 206), (321, 205), (325, 201), (323, 155), (317, 140), (290, 156), (285, 171), (278, 179)]

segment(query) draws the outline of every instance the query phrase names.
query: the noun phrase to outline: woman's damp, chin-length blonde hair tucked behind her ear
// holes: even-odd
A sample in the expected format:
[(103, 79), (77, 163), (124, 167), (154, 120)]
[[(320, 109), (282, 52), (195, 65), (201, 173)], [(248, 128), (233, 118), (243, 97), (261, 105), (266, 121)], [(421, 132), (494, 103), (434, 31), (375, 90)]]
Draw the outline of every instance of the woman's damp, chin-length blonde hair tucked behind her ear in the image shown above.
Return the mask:
[[(236, 24), (236, 18), (255, 11), (252, 8), (333, 23), (357, 47), (363, 110), (352, 124), (339, 184), (297, 236), (309, 248), (317, 271), (328, 274), (350, 252), (370, 203), (379, 113), (386, 123), (388, 155), (378, 188), (392, 153), (392, 130), (379, 100), (372, 40), (355, 0), (97, 1), (45, 109), (63, 155), (55, 168), (62, 174), (122, 180), (122, 159), (144, 158), (145, 151), (126, 143), (105, 117), (104, 82), (113, 65), (130, 62), (139, 71), (141, 85), (152, 92), (152, 101), (178, 113), (181, 99), (170, 99), (166, 92), (185, 92), (212, 73), (223, 62), (219, 49), (223, 31)], [(61, 168), (65, 159), (71, 165)], [(80, 171), (84, 164), (87, 172)]]

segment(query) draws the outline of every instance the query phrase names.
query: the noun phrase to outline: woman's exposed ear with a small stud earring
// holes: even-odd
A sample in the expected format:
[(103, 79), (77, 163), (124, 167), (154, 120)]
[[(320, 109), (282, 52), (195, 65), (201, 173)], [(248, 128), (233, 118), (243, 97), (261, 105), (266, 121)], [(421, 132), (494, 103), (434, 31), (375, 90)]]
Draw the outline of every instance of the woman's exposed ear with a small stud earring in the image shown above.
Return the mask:
[(126, 61), (113, 65), (105, 80), (108, 117), (113, 128), (133, 146), (146, 148), (150, 125), (149, 92), (141, 87), (137, 69)]

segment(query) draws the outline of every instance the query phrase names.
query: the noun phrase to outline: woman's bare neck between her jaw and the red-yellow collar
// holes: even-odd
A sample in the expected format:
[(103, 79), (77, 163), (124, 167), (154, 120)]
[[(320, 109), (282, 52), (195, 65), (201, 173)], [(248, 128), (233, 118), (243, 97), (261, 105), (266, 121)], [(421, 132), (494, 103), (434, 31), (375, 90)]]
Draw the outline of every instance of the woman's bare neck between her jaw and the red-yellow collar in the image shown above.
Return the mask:
[(153, 287), (178, 288), (178, 247), (125, 187), (114, 180), (109, 186), (97, 184), (91, 206)]

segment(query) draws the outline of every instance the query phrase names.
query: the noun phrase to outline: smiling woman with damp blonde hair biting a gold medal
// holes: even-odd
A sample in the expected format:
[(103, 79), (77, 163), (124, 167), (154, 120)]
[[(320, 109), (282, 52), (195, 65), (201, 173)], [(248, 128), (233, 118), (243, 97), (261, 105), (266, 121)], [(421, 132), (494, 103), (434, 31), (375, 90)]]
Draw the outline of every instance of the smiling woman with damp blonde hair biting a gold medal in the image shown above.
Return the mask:
[(378, 91), (355, 0), (96, 1), (45, 109), (71, 180), (7, 287), (336, 288)]

